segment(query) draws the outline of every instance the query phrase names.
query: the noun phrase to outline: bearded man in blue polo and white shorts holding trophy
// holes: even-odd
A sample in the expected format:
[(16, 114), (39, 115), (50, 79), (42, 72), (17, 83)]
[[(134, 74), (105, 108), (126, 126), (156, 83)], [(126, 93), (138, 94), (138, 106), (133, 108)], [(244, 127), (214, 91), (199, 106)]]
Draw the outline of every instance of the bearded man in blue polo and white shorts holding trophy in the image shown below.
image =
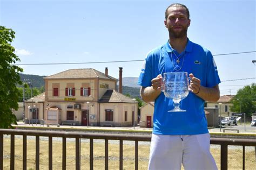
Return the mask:
[[(151, 51), (138, 84), (145, 102), (154, 101), (153, 133), (149, 169), (217, 169), (210, 153), (210, 134), (204, 112), (205, 101), (218, 101), (220, 79), (213, 56), (187, 38), (190, 13), (183, 4), (165, 11), (169, 31), (166, 44)], [(180, 102), (186, 112), (167, 112), (173, 102), (161, 93), (166, 72), (187, 72), (190, 93)]]

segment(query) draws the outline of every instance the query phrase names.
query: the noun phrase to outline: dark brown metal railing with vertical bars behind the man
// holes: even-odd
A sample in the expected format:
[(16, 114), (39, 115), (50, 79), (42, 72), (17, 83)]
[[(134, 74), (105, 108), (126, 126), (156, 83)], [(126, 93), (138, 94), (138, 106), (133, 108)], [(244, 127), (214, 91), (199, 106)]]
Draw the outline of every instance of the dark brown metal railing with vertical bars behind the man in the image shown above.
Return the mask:
[[(109, 168), (109, 140), (119, 140), (119, 169), (123, 169), (123, 141), (135, 142), (134, 169), (138, 169), (138, 141), (151, 141), (151, 136), (139, 134), (107, 134), (82, 132), (57, 132), (38, 130), (11, 130), (0, 129), (0, 169), (3, 169), (3, 141), (4, 134), (10, 135), (10, 169), (15, 169), (15, 136), (23, 136), (23, 169), (26, 169), (27, 136), (36, 137), (35, 168), (39, 169), (39, 137), (48, 137), (49, 169), (52, 169), (52, 138), (62, 138), (62, 169), (66, 169), (66, 138), (75, 138), (76, 143), (76, 169), (80, 169), (80, 139), (90, 139), (90, 169), (93, 169), (93, 139), (105, 140), (105, 169)], [(245, 169), (245, 146), (256, 146), (256, 139), (227, 139), (211, 138), (211, 144), (220, 145), (220, 167), (228, 168), (228, 145), (242, 146), (242, 169)]]

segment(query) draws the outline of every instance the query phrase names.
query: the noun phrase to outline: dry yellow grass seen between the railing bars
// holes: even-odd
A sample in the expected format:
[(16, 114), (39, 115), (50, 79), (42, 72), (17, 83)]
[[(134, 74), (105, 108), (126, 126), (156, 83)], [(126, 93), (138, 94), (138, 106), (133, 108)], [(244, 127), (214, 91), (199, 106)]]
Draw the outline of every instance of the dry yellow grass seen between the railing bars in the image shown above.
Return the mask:
[[(84, 140), (83, 140), (84, 141)], [(103, 140), (104, 141), (104, 140)], [(35, 169), (35, 140), (27, 140), (27, 169)], [(22, 138), (15, 138), (15, 169), (22, 169)], [(54, 140), (52, 144), (53, 169), (62, 169), (62, 141)], [(105, 145), (93, 143), (93, 167), (105, 169)], [(139, 144), (139, 169), (147, 169), (149, 145)], [(66, 143), (66, 169), (75, 169), (75, 142)], [(211, 152), (220, 169), (220, 147), (211, 147)], [(123, 169), (134, 169), (134, 145), (123, 145)], [(90, 144), (81, 144), (81, 169), (90, 167)], [(246, 169), (255, 168), (254, 147), (246, 147)], [(10, 138), (4, 138), (4, 169), (10, 169)], [(48, 141), (40, 140), (40, 169), (48, 169)], [(119, 145), (109, 144), (109, 169), (119, 169)], [(242, 169), (242, 147), (228, 147), (228, 169)]]

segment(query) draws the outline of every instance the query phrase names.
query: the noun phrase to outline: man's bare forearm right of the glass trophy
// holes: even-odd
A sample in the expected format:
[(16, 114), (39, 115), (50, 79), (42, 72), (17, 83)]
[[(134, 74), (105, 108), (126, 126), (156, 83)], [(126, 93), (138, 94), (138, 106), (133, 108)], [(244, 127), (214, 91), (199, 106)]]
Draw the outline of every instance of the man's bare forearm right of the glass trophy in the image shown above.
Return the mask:
[(217, 85), (212, 88), (200, 86), (199, 93), (196, 95), (205, 101), (217, 102), (220, 98), (219, 86)]

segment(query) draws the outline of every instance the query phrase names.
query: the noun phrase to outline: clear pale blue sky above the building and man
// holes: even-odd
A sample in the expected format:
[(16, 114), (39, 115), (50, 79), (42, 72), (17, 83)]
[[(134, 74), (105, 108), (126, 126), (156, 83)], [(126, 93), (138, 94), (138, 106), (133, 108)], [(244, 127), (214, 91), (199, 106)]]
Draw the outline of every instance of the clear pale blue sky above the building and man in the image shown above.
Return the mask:
[[(16, 32), (12, 45), (20, 63), (143, 60), (164, 44), (164, 12), (171, 3), (190, 10), (188, 38), (212, 52), (256, 51), (255, 1), (12, 1), (0, 0), (0, 25)], [(214, 56), (221, 95), (234, 95), (256, 82), (256, 53)], [(118, 78), (138, 77), (143, 62), (82, 65), (26, 65), (24, 74), (52, 75), (71, 68), (95, 68)], [(226, 81), (248, 79), (240, 81)]]

